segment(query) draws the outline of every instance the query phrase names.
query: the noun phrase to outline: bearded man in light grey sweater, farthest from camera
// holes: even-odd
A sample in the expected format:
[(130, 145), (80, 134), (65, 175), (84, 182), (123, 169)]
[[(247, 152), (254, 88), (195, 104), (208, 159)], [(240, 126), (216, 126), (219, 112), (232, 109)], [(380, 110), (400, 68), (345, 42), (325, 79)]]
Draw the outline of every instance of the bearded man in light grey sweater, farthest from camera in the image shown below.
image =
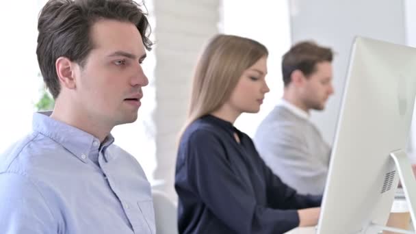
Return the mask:
[(333, 51), (314, 42), (299, 42), (283, 55), (283, 99), (255, 133), (259, 154), (274, 174), (301, 194), (322, 194), (330, 146), (309, 120), (333, 94)]

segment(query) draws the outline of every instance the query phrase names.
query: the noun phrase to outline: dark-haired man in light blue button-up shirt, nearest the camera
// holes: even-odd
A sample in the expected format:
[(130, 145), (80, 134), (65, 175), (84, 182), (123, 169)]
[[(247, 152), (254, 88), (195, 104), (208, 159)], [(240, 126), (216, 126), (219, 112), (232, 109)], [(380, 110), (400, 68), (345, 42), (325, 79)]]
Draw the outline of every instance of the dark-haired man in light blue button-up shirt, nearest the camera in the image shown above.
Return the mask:
[(50, 0), (38, 30), (55, 108), (0, 155), (0, 233), (155, 233), (150, 184), (110, 134), (148, 84), (146, 15), (130, 0)]

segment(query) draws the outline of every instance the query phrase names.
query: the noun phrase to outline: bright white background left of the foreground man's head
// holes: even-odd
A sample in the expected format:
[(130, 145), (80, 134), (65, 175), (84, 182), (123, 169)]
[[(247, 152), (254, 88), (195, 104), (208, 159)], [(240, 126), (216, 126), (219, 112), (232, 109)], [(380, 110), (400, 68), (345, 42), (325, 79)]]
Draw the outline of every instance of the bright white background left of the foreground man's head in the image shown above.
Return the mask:
[(0, 153), (31, 129), (34, 103), (40, 96), (42, 78), (37, 76), (36, 59), (40, 5), (40, 0), (1, 3)]

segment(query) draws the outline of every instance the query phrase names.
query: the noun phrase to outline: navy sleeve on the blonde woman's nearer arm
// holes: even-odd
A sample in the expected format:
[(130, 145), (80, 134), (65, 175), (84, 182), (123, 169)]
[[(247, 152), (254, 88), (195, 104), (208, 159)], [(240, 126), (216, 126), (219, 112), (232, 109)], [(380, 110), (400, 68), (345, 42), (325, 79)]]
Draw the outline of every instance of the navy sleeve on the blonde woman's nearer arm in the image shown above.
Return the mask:
[[(208, 209), (236, 233), (285, 233), (299, 224), (296, 209), (272, 209), (257, 204), (226, 155), (220, 137), (210, 131), (192, 133), (186, 168), (192, 190)], [(280, 196), (281, 194), (278, 194)]]

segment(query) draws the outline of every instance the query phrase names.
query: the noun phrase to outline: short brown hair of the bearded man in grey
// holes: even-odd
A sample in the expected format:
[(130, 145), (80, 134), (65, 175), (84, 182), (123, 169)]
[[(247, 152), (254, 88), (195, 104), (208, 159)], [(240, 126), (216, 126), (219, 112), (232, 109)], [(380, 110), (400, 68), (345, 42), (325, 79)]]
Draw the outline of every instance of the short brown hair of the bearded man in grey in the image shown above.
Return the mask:
[(294, 44), (282, 58), (283, 83), (285, 86), (290, 83), (294, 70), (300, 70), (308, 77), (315, 72), (315, 65), (320, 62), (333, 62), (333, 51), (330, 48), (311, 41)]

